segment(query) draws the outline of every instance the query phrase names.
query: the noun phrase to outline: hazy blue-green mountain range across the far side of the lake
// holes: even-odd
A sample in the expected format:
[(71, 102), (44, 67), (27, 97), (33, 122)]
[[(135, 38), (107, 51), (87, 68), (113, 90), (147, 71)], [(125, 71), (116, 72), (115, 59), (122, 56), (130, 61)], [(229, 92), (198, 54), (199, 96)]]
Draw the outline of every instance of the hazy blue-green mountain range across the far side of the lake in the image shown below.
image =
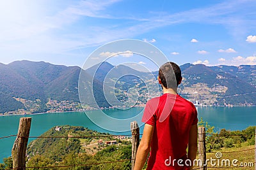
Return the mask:
[[(180, 69), (183, 80), (178, 92), (193, 103), (197, 101), (215, 106), (256, 105), (256, 66), (184, 64)], [(129, 100), (129, 89), (136, 89), (137, 104), (145, 104), (147, 97), (150, 97), (149, 92), (152, 92), (148, 91), (148, 85), (156, 83), (154, 78), (158, 74), (158, 71), (146, 73), (128, 66), (113, 66), (108, 62), (86, 70), (78, 66), (28, 60), (0, 63), (0, 113), (31, 108), (33, 113), (44, 112), (49, 110), (46, 104), (49, 99), (79, 103), (78, 82), (81, 71), (86, 77), (83, 80), (84, 86), (93, 88), (95, 101), (100, 107), (113, 105), (104, 97), (104, 85), (109, 90), (115, 87), (114, 94), (120, 102)], [(89, 80), (93, 80), (93, 86)], [(156, 93), (159, 89), (155, 88)]]

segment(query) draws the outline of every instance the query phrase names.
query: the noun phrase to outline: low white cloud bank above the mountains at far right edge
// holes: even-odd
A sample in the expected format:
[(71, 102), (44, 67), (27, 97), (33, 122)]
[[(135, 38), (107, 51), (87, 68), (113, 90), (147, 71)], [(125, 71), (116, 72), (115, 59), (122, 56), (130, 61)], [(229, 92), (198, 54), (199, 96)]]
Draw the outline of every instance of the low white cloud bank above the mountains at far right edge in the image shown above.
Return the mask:
[(228, 66), (240, 66), (240, 65), (256, 65), (256, 56), (242, 57), (237, 56), (233, 57), (231, 60), (227, 59), (218, 59), (220, 62), (219, 65), (228, 65)]

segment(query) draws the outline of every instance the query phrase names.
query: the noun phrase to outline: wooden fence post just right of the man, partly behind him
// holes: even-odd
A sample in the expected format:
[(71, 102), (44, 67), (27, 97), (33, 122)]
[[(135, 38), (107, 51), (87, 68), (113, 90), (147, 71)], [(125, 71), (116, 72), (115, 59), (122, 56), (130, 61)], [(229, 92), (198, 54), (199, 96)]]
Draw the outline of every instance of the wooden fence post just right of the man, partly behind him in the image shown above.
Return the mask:
[[(202, 160), (202, 166), (200, 170), (206, 170), (206, 147), (205, 147), (205, 127), (198, 127), (198, 158)], [(205, 165), (205, 166), (204, 166)]]

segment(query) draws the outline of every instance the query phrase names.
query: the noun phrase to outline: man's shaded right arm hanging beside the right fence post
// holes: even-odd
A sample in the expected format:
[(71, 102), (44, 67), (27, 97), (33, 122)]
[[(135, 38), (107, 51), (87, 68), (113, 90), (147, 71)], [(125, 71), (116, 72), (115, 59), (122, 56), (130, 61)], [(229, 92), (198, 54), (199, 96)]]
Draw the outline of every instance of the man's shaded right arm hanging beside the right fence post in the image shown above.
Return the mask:
[[(188, 141), (188, 159), (193, 161), (196, 159), (197, 152), (197, 124), (192, 125), (189, 131), (189, 141)], [(190, 167), (193, 169), (193, 166)]]

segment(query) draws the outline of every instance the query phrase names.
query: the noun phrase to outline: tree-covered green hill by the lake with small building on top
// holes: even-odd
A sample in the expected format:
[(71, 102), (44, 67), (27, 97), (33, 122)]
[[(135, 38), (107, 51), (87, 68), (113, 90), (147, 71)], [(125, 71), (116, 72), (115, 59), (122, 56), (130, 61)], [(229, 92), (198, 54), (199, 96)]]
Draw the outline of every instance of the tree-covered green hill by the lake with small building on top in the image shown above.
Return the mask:
[[(49, 131), (42, 134), (42, 136), (51, 136), (52, 138), (38, 138), (31, 141), (27, 150), (29, 158), (34, 155), (40, 155), (42, 157), (48, 157), (54, 162), (60, 162), (63, 156), (69, 153), (79, 153), (81, 151), (80, 140), (78, 138), (68, 137), (94, 136), (100, 134), (89, 129), (84, 129), (84, 127), (65, 125), (60, 128), (60, 131), (56, 131), (56, 129), (52, 127)], [(62, 136), (66, 138), (59, 138)], [(84, 140), (89, 141), (90, 138)]]

